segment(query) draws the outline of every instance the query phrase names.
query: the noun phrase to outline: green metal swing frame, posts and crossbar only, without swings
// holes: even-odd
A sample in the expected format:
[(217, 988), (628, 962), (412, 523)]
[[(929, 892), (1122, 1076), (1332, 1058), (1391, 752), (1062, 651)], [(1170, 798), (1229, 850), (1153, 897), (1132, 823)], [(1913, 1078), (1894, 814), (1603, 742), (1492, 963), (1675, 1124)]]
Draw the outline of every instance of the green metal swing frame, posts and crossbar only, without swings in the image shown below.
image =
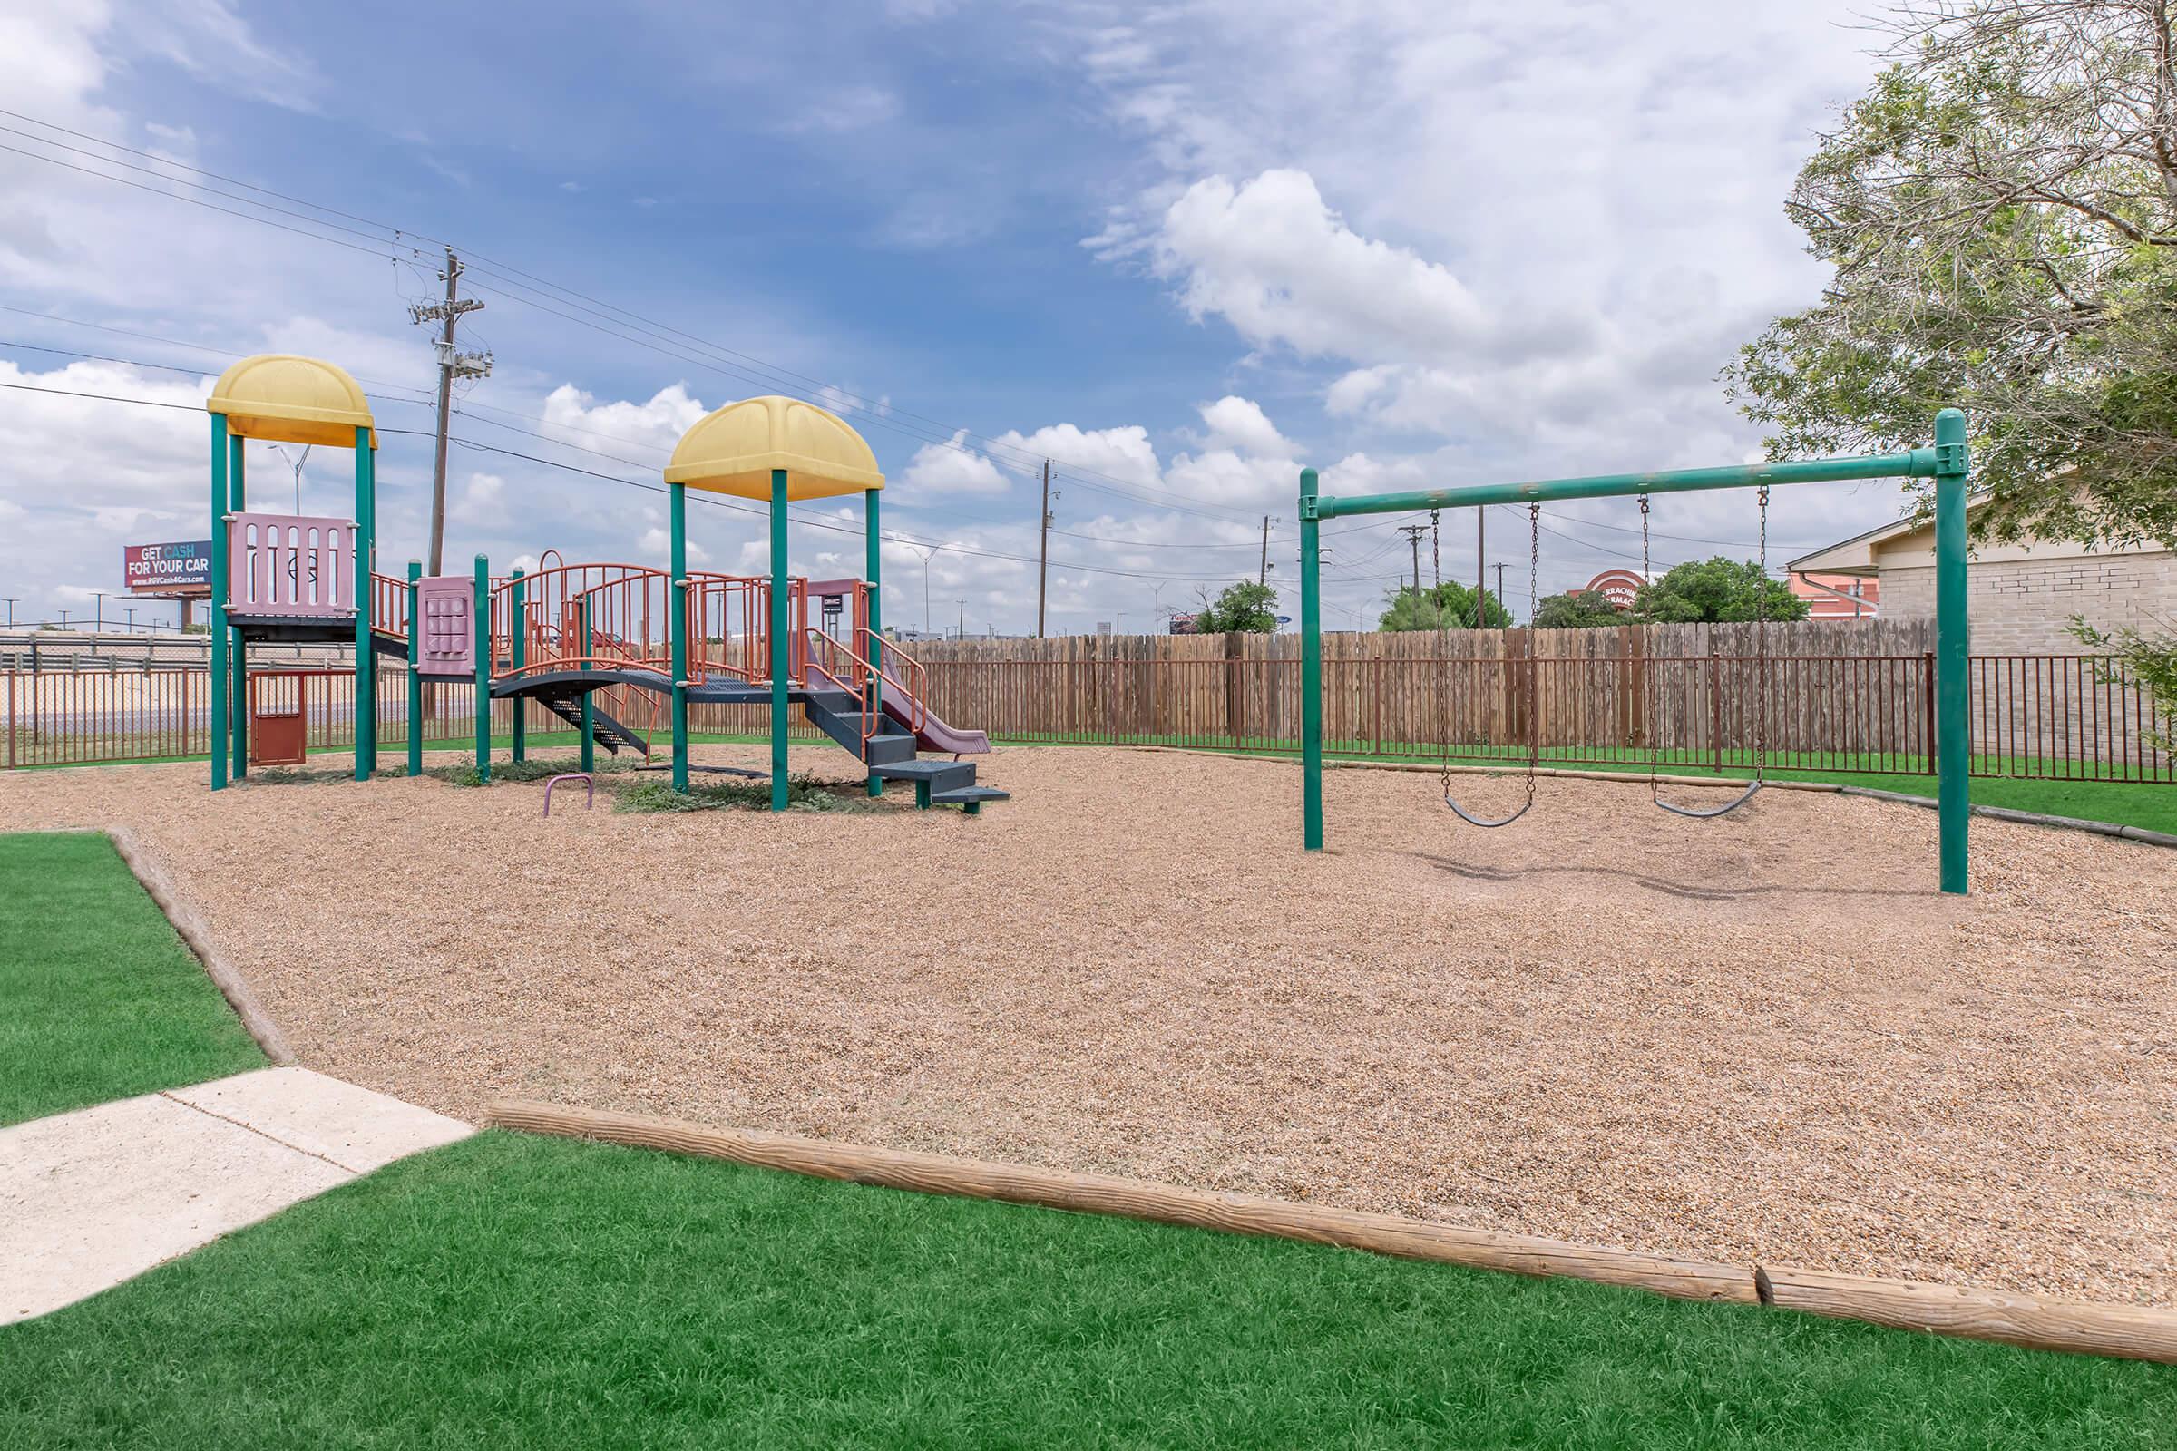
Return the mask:
[(1935, 416), (1935, 446), (1909, 452), (1857, 455), (1846, 459), (1798, 459), (1787, 463), (1742, 463), (1726, 468), (1683, 468), (1657, 474), (1594, 474), (1530, 483), (1485, 483), (1406, 494), (1317, 494), (1313, 468), (1300, 474), (1300, 679), (1302, 679), (1302, 844), (1324, 848), (1324, 642), (1321, 568), (1317, 537), (1324, 520), (1361, 513), (1413, 513), (1426, 509), (1483, 509), (1491, 505), (1546, 505), (1572, 498), (1620, 498), (1639, 494), (1689, 494), (1702, 489), (1776, 487), (1789, 483), (1840, 483), (1857, 479), (1935, 481), (1935, 772), (1940, 790), (1940, 879), (1942, 890), (1968, 888), (1966, 829), (1970, 820), (1968, 770), (1968, 618), (1966, 618), (1966, 483), (1970, 457), (1966, 416), (1942, 409)]

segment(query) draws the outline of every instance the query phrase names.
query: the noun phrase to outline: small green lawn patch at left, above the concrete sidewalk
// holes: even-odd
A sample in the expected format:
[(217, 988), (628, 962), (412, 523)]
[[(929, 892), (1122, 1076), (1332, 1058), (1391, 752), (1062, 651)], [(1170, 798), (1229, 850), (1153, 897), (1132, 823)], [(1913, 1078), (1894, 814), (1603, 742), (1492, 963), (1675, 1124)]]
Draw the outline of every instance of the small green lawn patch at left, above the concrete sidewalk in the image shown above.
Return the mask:
[(107, 838), (0, 835), (0, 1123), (263, 1066)]

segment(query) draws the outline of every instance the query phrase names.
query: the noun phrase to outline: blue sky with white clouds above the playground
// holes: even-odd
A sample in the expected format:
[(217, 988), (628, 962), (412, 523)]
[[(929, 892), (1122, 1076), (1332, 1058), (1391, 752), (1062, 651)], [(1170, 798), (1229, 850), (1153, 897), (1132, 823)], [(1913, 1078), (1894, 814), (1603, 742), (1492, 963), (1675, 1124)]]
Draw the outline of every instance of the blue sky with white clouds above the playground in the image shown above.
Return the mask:
[[(409, 233), (444, 237), (488, 300), (464, 346), (496, 357), (457, 435), (655, 481), (703, 409), (819, 396), (895, 485), (888, 618), (921, 622), (927, 570), (932, 622), (971, 631), (1032, 629), (1045, 455), (1054, 631), (1139, 629), (1252, 574), (1263, 513), (1291, 576), (1302, 463), (1367, 489), (1750, 457), (1713, 374), (1818, 296), (1781, 200), (1874, 67), (1842, 4), (1720, 0), (631, 4), (610, 24), (551, 2), (33, 0), (0, 41), (4, 104), (35, 117), (0, 117), (30, 133), (0, 135), (30, 152), (0, 152), (0, 381), (192, 405), (231, 352), (303, 350), (366, 379), (385, 426), (427, 429), (407, 305), (438, 289), (438, 248)], [(353, 218), (155, 183), (118, 163), (205, 178), (113, 146)], [(627, 313), (675, 337), (647, 346)], [(202, 535), (202, 437), (183, 409), (0, 389), (17, 613), (81, 618), (122, 544)], [(287, 476), (250, 468), (259, 489)], [(305, 507), (344, 509), (344, 468), (311, 459)], [(427, 444), (388, 435), (381, 472), (396, 570), (422, 548)], [(455, 566), (662, 559), (642, 489), (455, 448), (448, 496)], [(1887, 485), (1785, 498), (1776, 557), (1896, 507)], [(1624, 563), (1635, 518), (1554, 511), (1539, 590)], [(1395, 522), (1332, 544), (1332, 624), (1374, 616)], [(1750, 542), (1750, 500), (1670, 500), (1657, 529), (1678, 535), (1665, 563)], [(1472, 522), (1446, 531), (1446, 570), (1469, 574)], [(1524, 524), (1491, 535), (1524, 605)], [(699, 509), (694, 537), (710, 568), (755, 568), (753, 520)], [(858, 557), (795, 533), (797, 568)]]

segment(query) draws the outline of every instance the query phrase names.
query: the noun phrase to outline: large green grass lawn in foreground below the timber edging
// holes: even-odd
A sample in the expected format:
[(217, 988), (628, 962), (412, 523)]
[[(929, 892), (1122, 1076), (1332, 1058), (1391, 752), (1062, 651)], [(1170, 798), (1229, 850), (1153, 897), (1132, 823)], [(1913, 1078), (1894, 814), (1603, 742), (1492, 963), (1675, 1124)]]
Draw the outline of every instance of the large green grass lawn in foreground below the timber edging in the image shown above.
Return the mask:
[(2168, 1368), (512, 1133), (0, 1329), (33, 1447), (2096, 1447)]

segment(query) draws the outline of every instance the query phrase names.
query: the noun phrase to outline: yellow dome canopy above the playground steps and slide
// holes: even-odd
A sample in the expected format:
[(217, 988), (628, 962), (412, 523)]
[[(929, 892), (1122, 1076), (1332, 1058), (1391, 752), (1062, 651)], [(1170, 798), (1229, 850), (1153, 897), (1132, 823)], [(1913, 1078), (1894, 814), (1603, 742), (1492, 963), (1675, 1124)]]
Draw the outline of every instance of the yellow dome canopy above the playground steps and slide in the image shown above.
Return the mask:
[(771, 470), (786, 470), (786, 498), (882, 489), (877, 455), (838, 413), (799, 398), (742, 398), (697, 420), (673, 448), (666, 483), (740, 498), (771, 498)]

